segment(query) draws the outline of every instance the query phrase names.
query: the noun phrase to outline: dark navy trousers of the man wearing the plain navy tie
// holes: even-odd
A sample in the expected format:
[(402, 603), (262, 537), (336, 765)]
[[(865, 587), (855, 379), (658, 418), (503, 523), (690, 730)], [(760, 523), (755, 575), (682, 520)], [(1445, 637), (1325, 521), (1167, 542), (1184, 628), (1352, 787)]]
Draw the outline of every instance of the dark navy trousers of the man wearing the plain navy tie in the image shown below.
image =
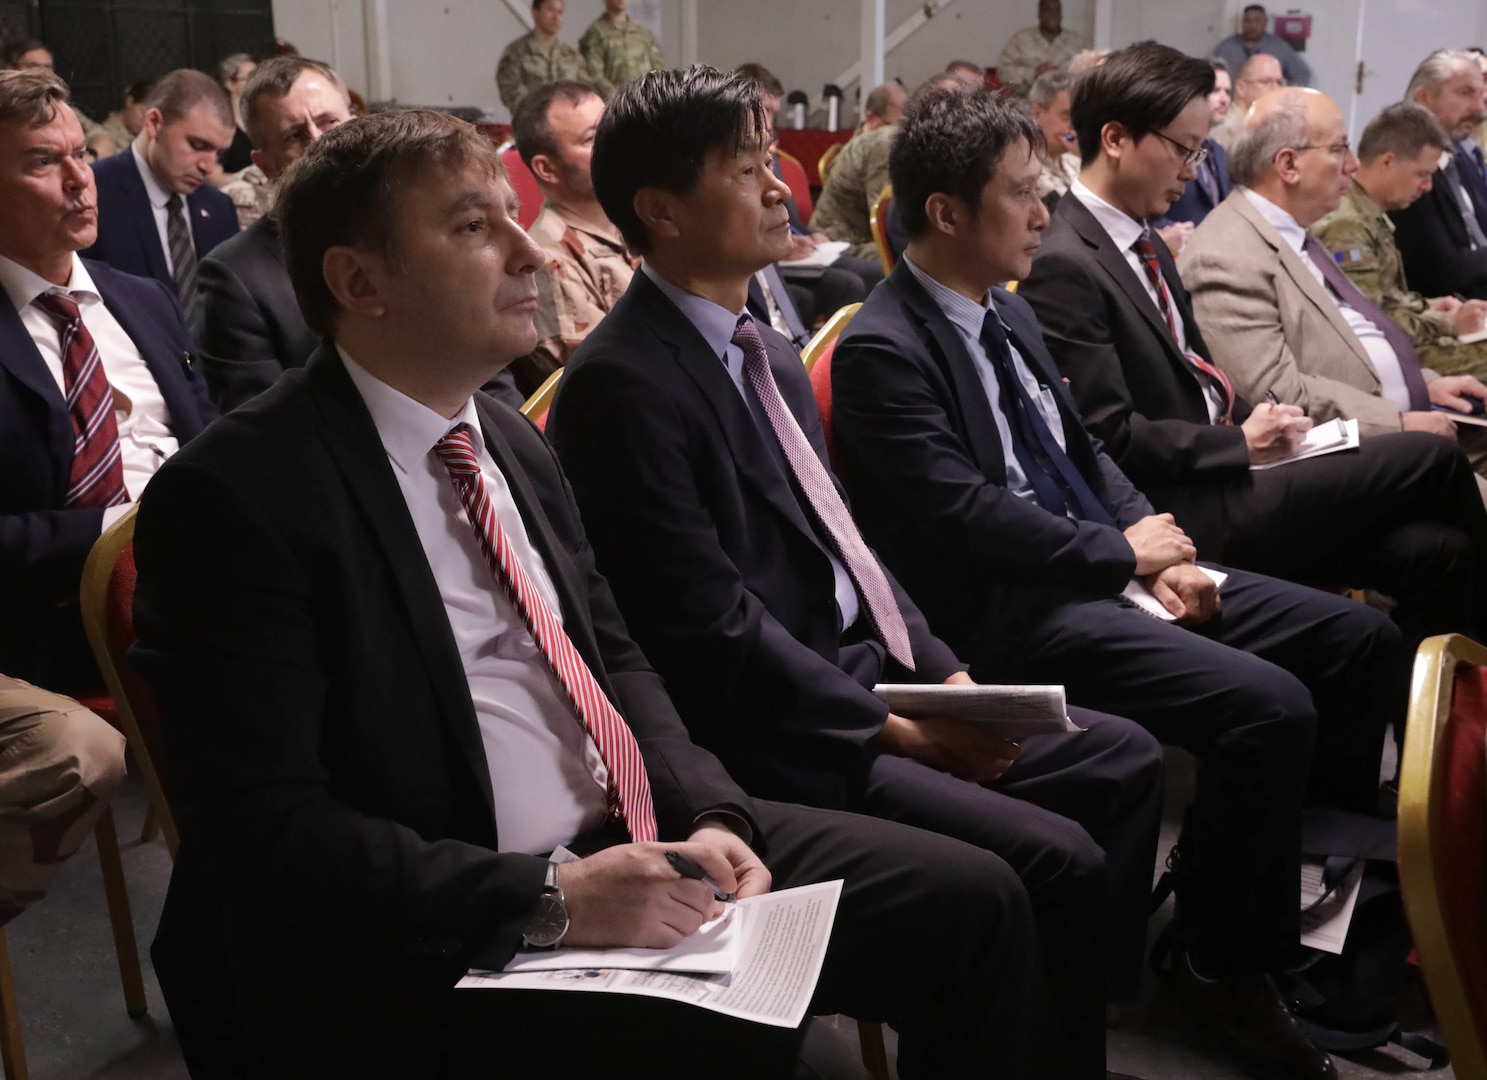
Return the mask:
[(1301, 809), (1374, 805), (1408, 678), (1399, 631), (1378, 611), (1228, 574), (1222, 613), (1194, 629), (1114, 598), (1050, 591), (1002, 605), (971, 666), (983, 681), (1062, 681), (1071, 701), (1197, 756), (1181, 903), (1216, 974), (1271, 970), (1295, 946)]

